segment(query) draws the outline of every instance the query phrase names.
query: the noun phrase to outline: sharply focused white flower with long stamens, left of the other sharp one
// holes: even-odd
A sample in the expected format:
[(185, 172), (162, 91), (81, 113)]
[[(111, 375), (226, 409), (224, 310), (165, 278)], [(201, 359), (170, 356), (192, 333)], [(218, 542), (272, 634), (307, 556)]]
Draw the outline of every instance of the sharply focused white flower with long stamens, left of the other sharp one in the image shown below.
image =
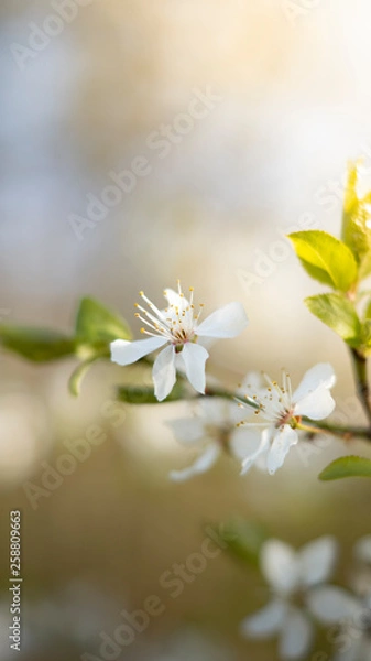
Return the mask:
[[(248, 317), (241, 303), (229, 303), (210, 314), (200, 324), (203, 305), (195, 314), (193, 288), (190, 300), (182, 292), (164, 291), (167, 307), (159, 310), (140, 292), (151, 312), (137, 303), (137, 316), (145, 324), (141, 332), (150, 337), (137, 342), (116, 339), (111, 343), (111, 360), (118, 365), (131, 365), (161, 347), (163, 350), (153, 365), (154, 392), (159, 401), (164, 400), (176, 381), (176, 369), (184, 369), (189, 382), (198, 392), (205, 393), (205, 364), (209, 356), (205, 346), (207, 338), (236, 337), (248, 325)], [(198, 342), (201, 338), (201, 342)]]

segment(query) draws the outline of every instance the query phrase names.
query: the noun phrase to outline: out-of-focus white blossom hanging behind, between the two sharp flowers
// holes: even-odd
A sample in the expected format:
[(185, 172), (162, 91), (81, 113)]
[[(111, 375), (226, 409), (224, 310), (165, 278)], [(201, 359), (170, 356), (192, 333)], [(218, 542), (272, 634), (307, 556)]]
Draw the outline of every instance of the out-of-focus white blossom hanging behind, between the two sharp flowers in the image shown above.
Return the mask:
[(241, 459), (251, 449), (250, 434), (238, 426), (243, 413), (236, 402), (220, 398), (205, 398), (198, 402), (195, 413), (194, 418), (166, 422), (179, 443), (200, 449), (199, 456), (192, 466), (184, 470), (171, 472), (171, 479), (176, 481), (205, 473), (223, 452)]

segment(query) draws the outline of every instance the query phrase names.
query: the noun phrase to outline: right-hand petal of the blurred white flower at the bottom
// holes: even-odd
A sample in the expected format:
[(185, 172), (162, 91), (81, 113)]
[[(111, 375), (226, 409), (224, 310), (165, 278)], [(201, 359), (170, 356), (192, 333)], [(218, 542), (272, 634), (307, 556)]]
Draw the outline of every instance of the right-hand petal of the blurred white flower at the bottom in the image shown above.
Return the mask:
[(335, 625), (353, 617), (360, 609), (357, 599), (336, 585), (314, 587), (307, 593), (306, 600), (310, 613), (324, 625)]

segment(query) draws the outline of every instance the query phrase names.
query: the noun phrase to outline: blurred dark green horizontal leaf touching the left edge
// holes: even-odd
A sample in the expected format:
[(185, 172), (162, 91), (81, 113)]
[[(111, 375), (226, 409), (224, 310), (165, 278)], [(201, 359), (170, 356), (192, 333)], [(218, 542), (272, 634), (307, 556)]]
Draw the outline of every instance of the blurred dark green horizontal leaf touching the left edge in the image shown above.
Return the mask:
[(0, 326), (0, 343), (33, 362), (56, 360), (75, 353), (75, 340), (57, 330), (26, 326)]

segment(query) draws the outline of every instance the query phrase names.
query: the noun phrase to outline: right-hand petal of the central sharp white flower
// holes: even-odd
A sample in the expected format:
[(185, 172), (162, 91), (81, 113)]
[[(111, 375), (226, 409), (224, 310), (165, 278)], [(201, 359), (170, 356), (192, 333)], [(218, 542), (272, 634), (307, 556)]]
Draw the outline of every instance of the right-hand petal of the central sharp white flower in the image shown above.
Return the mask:
[(236, 337), (248, 325), (249, 321), (241, 303), (228, 303), (212, 312), (195, 332), (206, 337)]

